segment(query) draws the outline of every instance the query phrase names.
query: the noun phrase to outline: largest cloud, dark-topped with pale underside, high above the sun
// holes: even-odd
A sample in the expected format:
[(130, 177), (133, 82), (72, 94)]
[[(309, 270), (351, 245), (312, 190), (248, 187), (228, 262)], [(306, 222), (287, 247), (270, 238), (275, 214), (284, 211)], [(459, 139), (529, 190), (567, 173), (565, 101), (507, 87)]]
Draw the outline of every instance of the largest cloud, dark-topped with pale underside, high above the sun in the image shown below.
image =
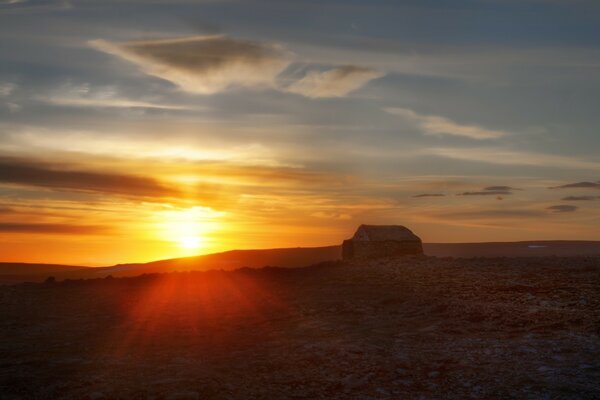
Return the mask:
[(199, 94), (232, 87), (273, 87), (277, 75), (291, 62), (291, 53), (280, 45), (222, 35), (124, 43), (94, 40), (90, 44), (181, 90)]

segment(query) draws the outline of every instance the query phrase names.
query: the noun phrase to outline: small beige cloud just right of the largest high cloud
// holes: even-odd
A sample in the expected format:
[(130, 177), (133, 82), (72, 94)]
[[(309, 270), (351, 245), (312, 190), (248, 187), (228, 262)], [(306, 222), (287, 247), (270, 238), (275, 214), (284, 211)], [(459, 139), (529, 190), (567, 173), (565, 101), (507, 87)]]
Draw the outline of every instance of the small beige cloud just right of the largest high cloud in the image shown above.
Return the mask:
[(383, 75), (371, 68), (344, 65), (328, 71), (310, 71), (286, 90), (311, 98), (344, 97)]

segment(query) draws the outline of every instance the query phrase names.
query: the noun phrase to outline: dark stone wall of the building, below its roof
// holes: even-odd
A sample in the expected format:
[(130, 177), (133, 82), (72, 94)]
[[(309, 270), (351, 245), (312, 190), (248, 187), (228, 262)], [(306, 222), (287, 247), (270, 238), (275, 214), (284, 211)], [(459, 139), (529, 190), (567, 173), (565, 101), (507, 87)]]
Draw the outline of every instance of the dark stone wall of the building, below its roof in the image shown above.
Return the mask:
[(423, 254), (420, 241), (359, 241), (345, 240), (342, 244), (344, 260), (356, 258), (397, 257)]

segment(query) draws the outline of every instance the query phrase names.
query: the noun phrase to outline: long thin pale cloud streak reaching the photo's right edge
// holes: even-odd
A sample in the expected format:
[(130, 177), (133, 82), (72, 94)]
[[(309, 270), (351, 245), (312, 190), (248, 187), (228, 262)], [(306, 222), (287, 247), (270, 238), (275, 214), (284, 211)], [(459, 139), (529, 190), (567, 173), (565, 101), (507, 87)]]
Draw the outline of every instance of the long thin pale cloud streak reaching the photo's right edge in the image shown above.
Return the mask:
[(600, 162), (597, 161), (588, 161), (553, 154), (512, 151), (494, 147), (438, 147), (425, 149), (422, 154), (495, 165), (529, 165), (582, 170), (600, 169)]

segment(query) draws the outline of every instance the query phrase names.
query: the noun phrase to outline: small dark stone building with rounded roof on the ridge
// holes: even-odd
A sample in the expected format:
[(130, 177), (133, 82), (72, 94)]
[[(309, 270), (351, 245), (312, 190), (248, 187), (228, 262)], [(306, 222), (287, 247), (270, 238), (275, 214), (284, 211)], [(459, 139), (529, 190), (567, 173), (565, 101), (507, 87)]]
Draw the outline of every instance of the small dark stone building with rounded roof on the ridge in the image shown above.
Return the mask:
[(401, 225), (361, 225), (342, 245), (344, 260), (420, 254), (423, 254), (421, 239)]

